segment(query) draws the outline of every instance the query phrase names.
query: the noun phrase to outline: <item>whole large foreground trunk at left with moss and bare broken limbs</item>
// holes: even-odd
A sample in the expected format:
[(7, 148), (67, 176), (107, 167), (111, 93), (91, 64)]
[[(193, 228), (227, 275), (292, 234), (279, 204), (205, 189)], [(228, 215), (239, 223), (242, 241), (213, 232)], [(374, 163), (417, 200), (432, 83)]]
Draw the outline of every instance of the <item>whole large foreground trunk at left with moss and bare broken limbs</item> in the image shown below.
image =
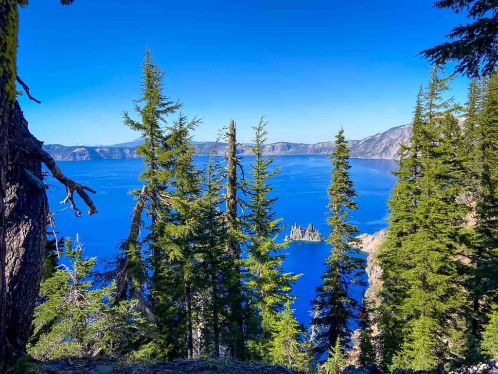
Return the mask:
[(42, 182), (44, 163), (66, 186), (66, 202), (77, 215), (76, 192), (97, 210), (82, 186), (62, 174), (42, 143), (27, 128), (15, 101), (17, 80), (30, 100), (29, 88), (17, 77), (18, 0), (0, 0), (0, 370), (25, 353), (34, 303), (38, 297), (46, 241), (47, 200)]

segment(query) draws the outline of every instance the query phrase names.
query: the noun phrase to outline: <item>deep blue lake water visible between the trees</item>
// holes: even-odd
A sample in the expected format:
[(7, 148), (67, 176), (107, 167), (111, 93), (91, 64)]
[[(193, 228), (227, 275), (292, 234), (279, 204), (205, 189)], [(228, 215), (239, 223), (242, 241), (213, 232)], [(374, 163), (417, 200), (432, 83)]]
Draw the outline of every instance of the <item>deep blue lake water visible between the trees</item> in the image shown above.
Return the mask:
[[(246, 173), (250, 161), (250, 157), (242, 160)], [(196, 162), (200, 166), (205, 165), (207, 157), (197, 157)], [(141, 187), (138, 176), (142, 161), (73, 161), (59, 162), (58, 165), (68, 177), (97, 190), (92, 197), (99, 213), (88, 216), (85, 204), (76, 196), (75, 201), (83, 215), (77, 218), (70, 209), (57, 213), (57, 230), (64, 236), (74, 237), (78, 233), (87, 256), (111, 257), (117, 252), (119, 242), (128, 235), (134, 204), (128, 191)], [(391, 160), (365, 159), (351, 159), (351, 165), (351, 178), (356, 182), (360, 195), (359, 210), (352, 212), (352, 222), (361, 232), (372, 234), (387, 226), (386, 199), (395, 182), (389, 171), (396, 170), (397, 165)], [(325, 212), (331, 171), (328, 157), (280, 156), (275, 158), (274, 166), (281, 168), (281, 173), (272, 181), (274, 194), (279, 196), (275, 210), (277, 216), (282, 217), (284, 224), (289, 226), (283, 235), (290, 232), (290, 225), (295, 222), (301, 226), (312, 222), (323, 236), (327, 236)], [(64, 207), (59, 203), (65, 197), (64, 188), (51, 179), (47, 182), (52, 186), (48, 193), (50, 209), (58, 211)], [(286, 252), (285, 270), (303, 274), (293, 288), (293, 294), (298, 297), (294, 303), (295, 314), (299, 322), (308, 323), (310, 301), (321, 282), (323, 262), (330, 248), (325, 242), (292, 242)], [(362, 292), (355, 290), (357, 297), (361, 297)]]

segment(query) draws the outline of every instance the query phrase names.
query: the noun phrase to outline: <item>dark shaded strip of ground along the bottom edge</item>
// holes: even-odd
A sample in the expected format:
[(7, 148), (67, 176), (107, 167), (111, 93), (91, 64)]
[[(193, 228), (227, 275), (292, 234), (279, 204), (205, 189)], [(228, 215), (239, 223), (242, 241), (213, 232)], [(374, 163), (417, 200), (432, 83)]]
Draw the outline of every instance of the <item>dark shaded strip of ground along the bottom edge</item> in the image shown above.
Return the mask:
[(121, 364), (115, 360), (67, 359), (38, 363), (36, 373), (52, 374), (295, 374), (284, 367), (250, 362), (185, 360), (155, 364)]

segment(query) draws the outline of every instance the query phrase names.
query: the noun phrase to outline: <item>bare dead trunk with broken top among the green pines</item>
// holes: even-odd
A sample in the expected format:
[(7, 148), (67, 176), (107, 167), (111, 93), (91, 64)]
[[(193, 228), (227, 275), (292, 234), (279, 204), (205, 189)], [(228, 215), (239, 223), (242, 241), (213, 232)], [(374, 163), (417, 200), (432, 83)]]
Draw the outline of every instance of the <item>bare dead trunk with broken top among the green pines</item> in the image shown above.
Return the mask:
[(236, 232), (239, 230), (237, 221), (237, 139), (234, 120), (230, 121), (228, 130), (228, 176), (227, 176), (227, 226), (228, 226), (228, 242), (227, 250), (234, 258), (235, 274), (238, 278), (229, 290), (229, 294), (233, 297), (233, 302), (230, 307), (231, 319), (234, 322), (236, 329), (230, 333), (234, 339), (229, 344), (230, 357), (237, 360), (245, 360), (245, 342), (244, 342), (244, 319), (242, 308), (242, 284), (241, 284), (241, 269), (239, 266), (240, 247), (236, 237)]

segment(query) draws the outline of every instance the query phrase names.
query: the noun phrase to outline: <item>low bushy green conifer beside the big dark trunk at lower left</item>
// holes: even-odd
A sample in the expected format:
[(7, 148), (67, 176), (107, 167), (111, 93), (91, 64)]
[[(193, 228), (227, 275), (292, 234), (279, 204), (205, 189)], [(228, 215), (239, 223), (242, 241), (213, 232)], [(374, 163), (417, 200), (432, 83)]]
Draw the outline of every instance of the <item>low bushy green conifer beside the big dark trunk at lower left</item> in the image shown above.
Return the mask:
[(28, 353), (38, 360), (116, 356), (132, 350), (140, 337), (152, 337), (136, 303), (113, 305), (113, 285), (94, 289), (89, 275), (95, 258), (83, 257), (78, 238), (75, 245), (66, 238), (65, 246), (70, 267), (56, 270), (41, 285)]

